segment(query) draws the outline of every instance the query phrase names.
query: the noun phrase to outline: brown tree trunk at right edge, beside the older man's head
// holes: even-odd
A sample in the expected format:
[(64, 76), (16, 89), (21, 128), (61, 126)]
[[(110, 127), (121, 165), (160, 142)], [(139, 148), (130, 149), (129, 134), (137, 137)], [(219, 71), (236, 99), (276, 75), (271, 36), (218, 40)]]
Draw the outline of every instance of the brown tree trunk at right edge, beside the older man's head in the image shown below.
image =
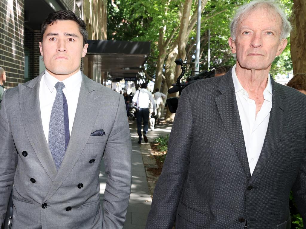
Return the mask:
[(306, 73), (306, 2), (293, 0), (293, 30), (290, 34), (293, 74)]

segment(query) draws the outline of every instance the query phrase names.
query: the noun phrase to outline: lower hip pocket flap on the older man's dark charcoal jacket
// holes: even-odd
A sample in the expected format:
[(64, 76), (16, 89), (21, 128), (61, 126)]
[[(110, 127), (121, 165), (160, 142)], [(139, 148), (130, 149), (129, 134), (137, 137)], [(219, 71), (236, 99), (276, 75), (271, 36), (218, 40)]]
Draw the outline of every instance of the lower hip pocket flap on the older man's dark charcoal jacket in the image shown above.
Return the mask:
[(199, 227), (203, 227), (208, 218), (206, 213), (201, 213), (195, 209), (191, 209), (182, 203), (179, 206), (178, 215)]

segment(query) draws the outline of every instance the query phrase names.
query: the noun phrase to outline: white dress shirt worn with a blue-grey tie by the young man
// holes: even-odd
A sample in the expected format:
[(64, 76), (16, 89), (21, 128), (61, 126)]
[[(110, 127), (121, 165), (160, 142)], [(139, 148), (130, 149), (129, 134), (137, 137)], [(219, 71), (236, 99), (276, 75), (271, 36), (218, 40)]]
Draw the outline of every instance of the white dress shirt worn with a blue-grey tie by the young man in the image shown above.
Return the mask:
[[(40, 115), (43, 124), (43, 132), (47, 143), (49, 144), (49, 123), (52, 106), (56, 96), (55, 84), (59, 80), (49, 74), (46, 70), (45, 74), (42, 76), (39, 85), (39, 103), (40, 103)], [(71, 130), (74, 122), (74, 116), (76, 114), (76, 106), (79, 100), (82, 74), (78, 71), (76, 74), (68, 77), (62, 81), (65, 85), (63, 93), (67, 99), (68, 105), (68, 117), (69, 117), (69, 135), (71, 135)]]

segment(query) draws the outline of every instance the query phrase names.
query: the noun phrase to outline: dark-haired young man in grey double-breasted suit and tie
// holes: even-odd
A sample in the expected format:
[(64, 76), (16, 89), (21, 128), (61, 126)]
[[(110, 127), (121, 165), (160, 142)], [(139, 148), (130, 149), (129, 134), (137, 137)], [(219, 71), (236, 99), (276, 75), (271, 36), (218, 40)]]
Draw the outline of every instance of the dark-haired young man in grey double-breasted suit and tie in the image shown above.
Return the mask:
[(14, 184), (12, 229), (122, 228), (132, 177), (124, 98), (80, 71), (88, 33), (73, 12), (51, 13), (41, 36), (46, 71), (1, 104), (0, 224)]

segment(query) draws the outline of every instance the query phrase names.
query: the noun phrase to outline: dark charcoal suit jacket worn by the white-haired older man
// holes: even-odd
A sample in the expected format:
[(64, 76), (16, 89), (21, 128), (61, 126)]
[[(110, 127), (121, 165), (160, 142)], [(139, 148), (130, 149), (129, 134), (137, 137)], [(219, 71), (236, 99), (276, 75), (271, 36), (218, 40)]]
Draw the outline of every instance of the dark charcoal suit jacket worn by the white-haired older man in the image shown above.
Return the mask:
[(183, 90), (146, 229), (287, 229), (291, 189), (306, 226), (306, 96), (271, 81), (252, 176), (231, 71)]

